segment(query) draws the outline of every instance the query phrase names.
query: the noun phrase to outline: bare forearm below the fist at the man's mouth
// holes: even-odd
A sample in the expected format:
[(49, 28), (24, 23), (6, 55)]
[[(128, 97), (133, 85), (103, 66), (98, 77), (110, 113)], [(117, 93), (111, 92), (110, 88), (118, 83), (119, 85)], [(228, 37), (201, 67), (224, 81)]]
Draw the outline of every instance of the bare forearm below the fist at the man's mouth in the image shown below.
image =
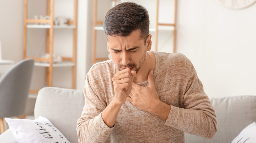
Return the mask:
[(121, 106), (122, 104), (112, 100), (106, 109), (102, 112), (101, 117), (108, 127), (112, 128), (114, 126)]

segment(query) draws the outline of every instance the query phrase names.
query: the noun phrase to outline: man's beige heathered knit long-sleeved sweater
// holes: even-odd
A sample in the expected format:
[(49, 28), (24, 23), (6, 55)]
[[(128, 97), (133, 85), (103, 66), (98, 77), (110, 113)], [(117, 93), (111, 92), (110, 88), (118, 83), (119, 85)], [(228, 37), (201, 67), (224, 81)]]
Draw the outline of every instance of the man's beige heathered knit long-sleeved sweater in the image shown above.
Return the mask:
[[(115, 126), (106, 126), (101, 112), (114, 97), (112, 78), (118, 69), (112, 60), (104, 61), (95, 64), (86, 76), (85, 106), (77, 121), (80, 143), (184, 143), (184, 132), (205, 138), (215, 135), (216, 114), (190, 60), (182, 54), (154, 54), (154, 83), (159, 99), (171, 105), (168, 119), (164, 121), (126, 101)], [(148, 81), (139, 85), (147, 86)]]

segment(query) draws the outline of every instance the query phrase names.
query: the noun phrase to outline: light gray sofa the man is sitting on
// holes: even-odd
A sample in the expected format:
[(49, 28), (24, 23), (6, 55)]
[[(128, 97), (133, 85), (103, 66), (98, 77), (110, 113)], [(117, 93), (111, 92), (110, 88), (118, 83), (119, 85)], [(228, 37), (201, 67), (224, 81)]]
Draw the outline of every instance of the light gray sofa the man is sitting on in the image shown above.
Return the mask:
[[(218, 119), (212, 139), (185, 133), (186, 143), (231, 143), (249, 124), (256, 121), (256, 96), (211, 98)], [(84, 107), (82, 90), (57, 87), (42, 88), (36, 99), (34, 115), (48, 118), (71, 142), (77, 143), (76, 121)], [(1, 143), (16, 143), (10, 129), (0, 135)]]

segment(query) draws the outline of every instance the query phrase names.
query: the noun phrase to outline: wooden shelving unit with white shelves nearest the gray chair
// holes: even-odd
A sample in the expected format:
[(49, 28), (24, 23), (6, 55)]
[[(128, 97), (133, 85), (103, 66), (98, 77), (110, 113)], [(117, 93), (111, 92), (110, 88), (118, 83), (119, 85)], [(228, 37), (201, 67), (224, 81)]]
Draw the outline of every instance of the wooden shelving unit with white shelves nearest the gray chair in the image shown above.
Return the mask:
[[(23, 41), (23, 58), (33, 58), (36, 62), (34, 66), (46, 67), (45, 81), (47, 86), (53, 85), (53, 67), (72, 67), (72, 88), (75, 89), (75, 71), (76, 71), (76, 24), (77, 24), (77, 0), (74, 0), (74, 17), (69, 20), (69, 25), (59, 26), (54, 25), (54, 0), (47, 0), (47, 15), (50, 19), (28, 19), (28, 0), (24, 0), (24, 41)], [(31, 24), (39, 23), (39, 24)], [(44, 25), (42, 24), (44, 23)], [(46, 53), (49, 53), (50, 58), (29, 57), (27, 56), (27, 28), (45, 28), (46, 35)], [(63, 62), (53, 63), (53, 30), (56, 28), (73, 29), (73, 56), (62, 57)], [(30, 90), (30, 93), (37, 93), (37, 90)]]

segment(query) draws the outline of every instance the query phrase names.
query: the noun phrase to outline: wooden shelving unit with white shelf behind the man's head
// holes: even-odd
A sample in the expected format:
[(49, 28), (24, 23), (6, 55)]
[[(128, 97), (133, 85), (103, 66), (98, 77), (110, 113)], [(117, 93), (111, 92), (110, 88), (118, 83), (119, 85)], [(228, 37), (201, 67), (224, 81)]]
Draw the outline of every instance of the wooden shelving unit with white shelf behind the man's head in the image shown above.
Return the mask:
[[(117, 4), (117, 0), (113, 0), (114, 5)], [(174, 23), (159, 23), (159, 0), (156, 0), (156, 27), (149, 28), (150, 32), (155, 32), (155, 52), (157, 52), (158, 48), (158, 35), (159, 31), (173, 31), (173, 53), (175, 53), (176, 47), (176, 16), (177, 16), (177, 0), (174, 0)], [(96, 31), (103, 30), (103, 26), (98, 26), (99, 24), (103, 24), (103, 21), (97, 21), (97, 0), (94, 0), (94, 21), (93, 21), (93, 64), (96, 61), (104, 61), (109, 58), (97, 58), (96, 57)]]

